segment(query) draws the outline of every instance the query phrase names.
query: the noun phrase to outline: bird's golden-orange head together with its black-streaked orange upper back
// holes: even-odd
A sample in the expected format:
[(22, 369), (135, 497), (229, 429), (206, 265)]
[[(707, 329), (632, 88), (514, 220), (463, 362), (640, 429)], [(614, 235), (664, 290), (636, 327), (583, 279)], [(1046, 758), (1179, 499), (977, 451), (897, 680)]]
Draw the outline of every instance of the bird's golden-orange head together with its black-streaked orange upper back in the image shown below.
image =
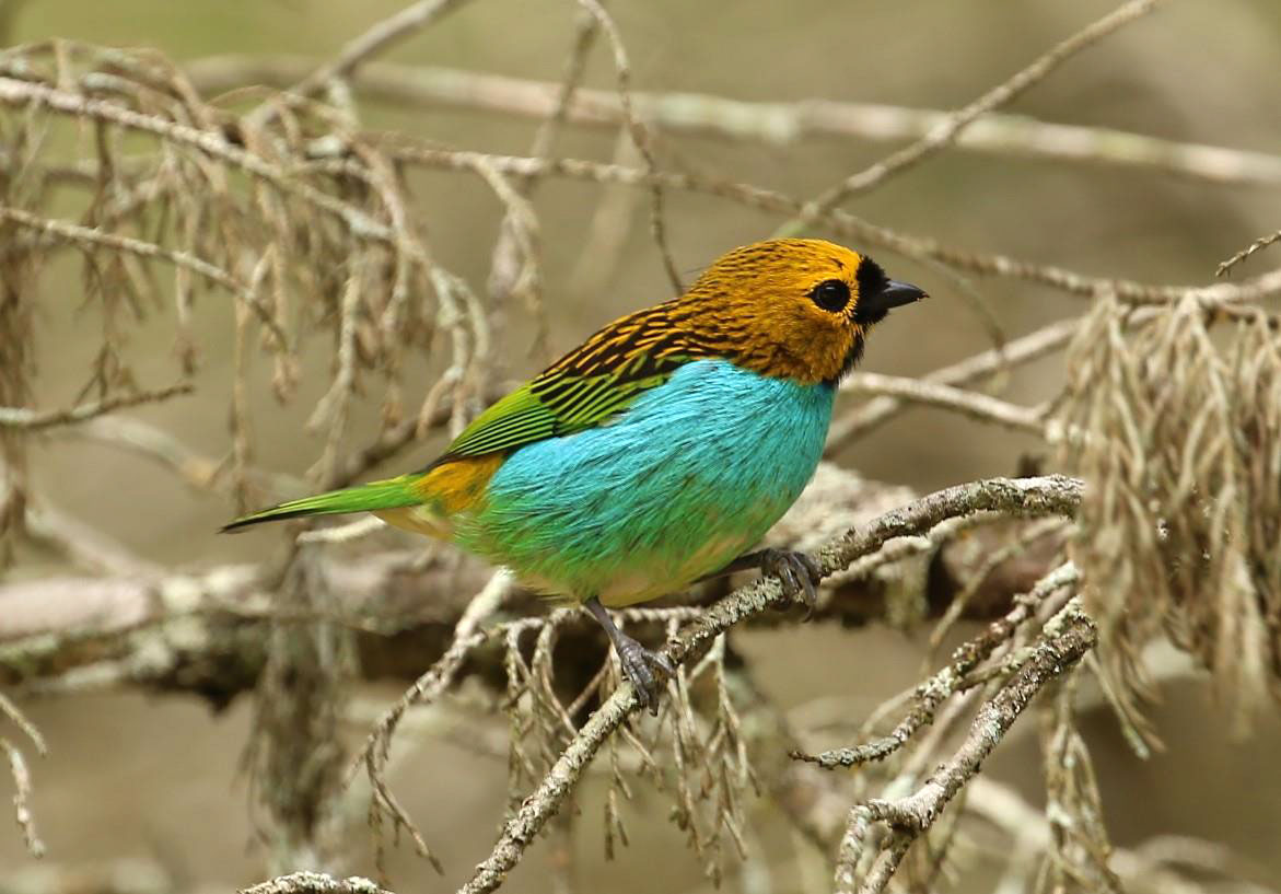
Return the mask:
[[(721, 357), (774, 378), (835, 383), (858, 361), (869, 328), (924, 298), (876, 261), (822, 240), (770, 240), (721, 256), (679, 298), (615, 320), (534, 379)], [(630, 366), (629, 366), (630, 365)]]

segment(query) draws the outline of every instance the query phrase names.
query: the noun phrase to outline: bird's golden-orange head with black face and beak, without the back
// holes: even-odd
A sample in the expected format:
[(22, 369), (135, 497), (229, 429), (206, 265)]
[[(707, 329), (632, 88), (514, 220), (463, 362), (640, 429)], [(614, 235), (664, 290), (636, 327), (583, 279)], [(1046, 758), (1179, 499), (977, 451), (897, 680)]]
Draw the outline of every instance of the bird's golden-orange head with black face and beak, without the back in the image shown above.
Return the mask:
[(685, 325), (733, 346), (726, 354), (740, 366), (835, 383), (858, 361), (872, 325), (924, 297), (843, 246), (770, 240), (720, 257), (674, 302), (673, 315), (684, 311)]

